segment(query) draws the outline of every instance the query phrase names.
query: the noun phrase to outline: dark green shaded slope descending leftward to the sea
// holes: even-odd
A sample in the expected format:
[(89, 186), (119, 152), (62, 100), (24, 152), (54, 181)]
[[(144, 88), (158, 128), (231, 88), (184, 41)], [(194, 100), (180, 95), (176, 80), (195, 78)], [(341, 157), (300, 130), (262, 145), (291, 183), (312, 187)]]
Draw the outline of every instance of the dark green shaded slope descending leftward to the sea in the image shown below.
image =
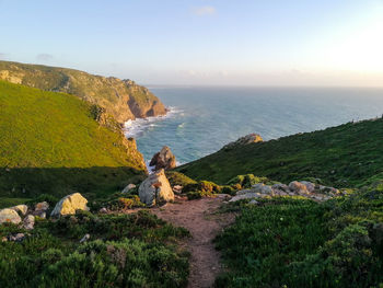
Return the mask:
[(176, 170), (219, 184), (253, 173), (281, 182), (320, 177), (335, 186), (355, 186), (383, 172), (382, 139), (383, 119), (348, 123), (221, 150)]

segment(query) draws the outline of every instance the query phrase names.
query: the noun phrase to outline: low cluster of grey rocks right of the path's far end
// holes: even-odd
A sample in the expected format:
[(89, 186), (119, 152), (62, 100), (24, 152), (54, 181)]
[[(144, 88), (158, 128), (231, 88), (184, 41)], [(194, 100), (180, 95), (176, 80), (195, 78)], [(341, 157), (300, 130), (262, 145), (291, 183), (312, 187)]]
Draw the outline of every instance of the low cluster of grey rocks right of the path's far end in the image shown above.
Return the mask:
[(255, 184), (249, 189), (239, 191), (236, 195), (230, 199), (230, 201), (278, 196), (302, 196), (323, 201), (340, 195), (343, 195), (343, 193), (334, 187), (317, 185), (307, 181), (293, 181), (289, 185), (265, 185), (263, 183)]

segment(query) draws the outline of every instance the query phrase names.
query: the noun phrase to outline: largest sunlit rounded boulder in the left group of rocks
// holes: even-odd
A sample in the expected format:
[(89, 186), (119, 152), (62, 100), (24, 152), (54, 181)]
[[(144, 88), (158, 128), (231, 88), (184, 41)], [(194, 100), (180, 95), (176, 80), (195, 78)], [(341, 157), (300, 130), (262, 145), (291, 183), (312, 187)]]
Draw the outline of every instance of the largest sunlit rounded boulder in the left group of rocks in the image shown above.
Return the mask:
[(73, 215), (76, 210), (89, 210), (86, 204), (88, 200), (80, 193), (73, 193), (59, 200), (50, 216), (59, 217), (62, 215)]

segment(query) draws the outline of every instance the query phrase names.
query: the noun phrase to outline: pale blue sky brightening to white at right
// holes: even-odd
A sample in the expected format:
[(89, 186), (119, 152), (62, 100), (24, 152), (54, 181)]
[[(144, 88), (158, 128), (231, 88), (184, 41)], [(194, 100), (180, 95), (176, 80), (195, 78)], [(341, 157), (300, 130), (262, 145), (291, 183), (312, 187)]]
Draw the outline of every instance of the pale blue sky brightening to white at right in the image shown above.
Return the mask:
[(0, 0), (0, 59), (159, 85), (383, 85), (383, 0)]

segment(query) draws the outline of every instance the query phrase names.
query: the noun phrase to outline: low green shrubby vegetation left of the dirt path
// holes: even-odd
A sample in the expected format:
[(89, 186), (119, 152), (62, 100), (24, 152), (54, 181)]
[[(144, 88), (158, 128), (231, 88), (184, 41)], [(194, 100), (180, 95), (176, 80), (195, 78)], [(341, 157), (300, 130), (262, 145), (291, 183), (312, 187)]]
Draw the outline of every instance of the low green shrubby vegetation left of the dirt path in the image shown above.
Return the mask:
[[(16, 232), (0, 227), (0, 238)], [(146, 211), (38, 220), (23, 242), (0, 244), (1, 287), (185, 287), (188, 254), (176, 242), (187, 235)]]

